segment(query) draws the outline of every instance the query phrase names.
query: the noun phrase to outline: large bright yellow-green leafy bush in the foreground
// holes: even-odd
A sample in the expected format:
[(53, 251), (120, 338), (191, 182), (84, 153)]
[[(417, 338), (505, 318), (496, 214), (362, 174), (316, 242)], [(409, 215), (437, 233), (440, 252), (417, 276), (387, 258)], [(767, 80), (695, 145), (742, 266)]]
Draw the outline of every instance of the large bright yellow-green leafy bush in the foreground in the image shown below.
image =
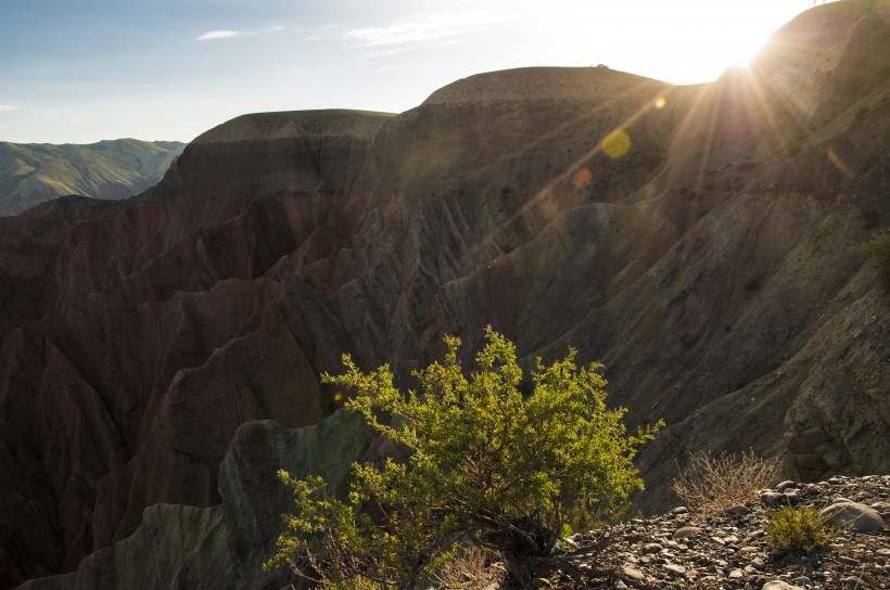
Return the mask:
[(527, 587), (555, 567), (572, 572), (555, 553), (563, 524), (626, 511), (627, 495), (643, 488), (632, 459), (661, 423), (627, 436), (626, 410), (606, 407), (601, 367), (576, 367), (574, 350), (549, 367), (537, 359), (524, 397), (513, 344), (491, 328), (486, 338), (479, 369), (465, 376), (460, 341), (446, 337), (444, 363), (414, 373), (420, 393), (399, 392), (387, 365), (364, 373), (348, 356), (345, 374), (323, 375), (355, 390), (346, 407), (409, 459), (355, 464), (348, 502), (330, 497), (321, 478), (280, 472), (295, 510), (267, 568), (415, 588), (475, 546), (499, 553), (508, 585)]

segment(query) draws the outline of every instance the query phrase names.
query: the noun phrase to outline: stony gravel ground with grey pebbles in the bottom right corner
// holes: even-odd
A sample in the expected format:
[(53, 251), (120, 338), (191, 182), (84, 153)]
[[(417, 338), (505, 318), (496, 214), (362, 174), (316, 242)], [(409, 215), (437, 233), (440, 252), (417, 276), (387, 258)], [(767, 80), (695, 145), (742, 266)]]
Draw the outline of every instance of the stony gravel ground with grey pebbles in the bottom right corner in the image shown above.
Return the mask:
[[(888, 476), (788, 484), (793, 484), (794, 493), (811, 508), (851, 497), (890, 515)], [(841, 528), (826, 547), (805, 554), (770, 544), (765, 528), (771, 515), (756, 500), (720, 514), (678, 506), (652, 518), (577, 534), (570, 540), (581, 570), (601, 572), (599, 579), (590, 581), (608, 583), (602, 586), (607, 588), (880, 588), (890, 575), (890, 530), (886, 527), (869, 534)], [(578, 588), (558, 575), (538, 580), (537, 587)]]

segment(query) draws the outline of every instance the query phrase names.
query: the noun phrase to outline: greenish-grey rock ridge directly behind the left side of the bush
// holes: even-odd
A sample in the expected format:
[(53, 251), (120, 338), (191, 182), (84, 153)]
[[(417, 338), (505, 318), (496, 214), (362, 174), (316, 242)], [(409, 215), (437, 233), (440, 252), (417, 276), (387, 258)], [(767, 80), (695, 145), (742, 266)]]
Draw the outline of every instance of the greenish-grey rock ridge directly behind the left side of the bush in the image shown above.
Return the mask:
[(349, 464), (372, 438), (363, 419), (344, 411), (300, 429), (274, 421), (244, 424), (220, 464), (218, 505), (149, 506), (136, 533), (90, 555), (77, 572), (22, 588), (283, 588), (287, 572), (262, 568), (275, 553), (277, 535), (271, 533), (292, 501), (277, 470), (297, 477), (321, 475), (332, 492), (345, 493)]

